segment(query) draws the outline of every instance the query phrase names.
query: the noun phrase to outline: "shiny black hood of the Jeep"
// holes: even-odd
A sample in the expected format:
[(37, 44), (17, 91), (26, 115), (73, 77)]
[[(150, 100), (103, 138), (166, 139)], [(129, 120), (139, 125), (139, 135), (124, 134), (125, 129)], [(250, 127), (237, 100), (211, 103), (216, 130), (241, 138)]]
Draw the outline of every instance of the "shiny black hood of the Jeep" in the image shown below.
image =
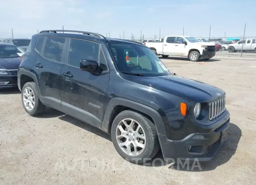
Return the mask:
[(209, 84), (177, 75), (154, 77), (130, 76), (130, 78), (155, 88), (167, 90), (178, 96), (186, 97), (195, 103), (214, 101), (225, 94), (223, 90)]

